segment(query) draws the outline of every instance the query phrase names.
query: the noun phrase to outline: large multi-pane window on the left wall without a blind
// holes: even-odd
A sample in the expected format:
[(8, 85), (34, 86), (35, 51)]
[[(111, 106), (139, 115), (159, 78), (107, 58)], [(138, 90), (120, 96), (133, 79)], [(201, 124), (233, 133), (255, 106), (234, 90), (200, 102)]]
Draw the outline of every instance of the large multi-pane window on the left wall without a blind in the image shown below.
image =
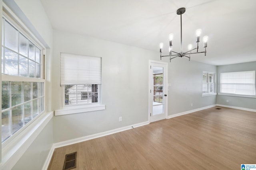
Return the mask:
[(42, 49), (2, 20), (2, 142), (44, 111)]

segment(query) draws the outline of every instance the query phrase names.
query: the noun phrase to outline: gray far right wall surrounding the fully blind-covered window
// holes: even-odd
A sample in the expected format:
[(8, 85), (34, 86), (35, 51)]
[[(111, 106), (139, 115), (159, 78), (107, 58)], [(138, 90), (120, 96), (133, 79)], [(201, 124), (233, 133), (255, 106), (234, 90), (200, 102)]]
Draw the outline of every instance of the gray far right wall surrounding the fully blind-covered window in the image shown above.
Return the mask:
[[(256, 61), (249, 63), (239, 63), (239, 64), (230, 64), (217, 66), (217, 74), (218, 74), (218, 89), (220, 92), (220, 73), (221, 72), (239, 72), (239, 71), (256, 71)], [(229, 103), (226, 102), (229, 100)], [(256, 98), (245, 98), (245, 97), (236, 97), (236, 96), (217, 96), (217, 104), (226, 105), (226, 106), (234, 106), (234, 107), (242, 107), (247, 109), (256, 109)]]

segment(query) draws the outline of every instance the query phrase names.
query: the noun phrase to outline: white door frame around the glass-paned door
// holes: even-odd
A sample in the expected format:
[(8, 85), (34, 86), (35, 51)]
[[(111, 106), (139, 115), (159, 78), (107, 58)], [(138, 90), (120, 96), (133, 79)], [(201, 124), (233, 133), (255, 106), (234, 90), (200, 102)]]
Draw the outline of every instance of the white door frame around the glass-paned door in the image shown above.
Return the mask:
[(151, 114), (153, 111), (153, 103), (152, 103), (152, 93), (153, 93), (153, 86), (152, 86), (152, 74), (151, 74), (151, 65), (152, 64), (162, 64), (164, 65), (164, 91), (163, 94), (167, 94), (167, 96), (164, 96), (164, 111), (165, 113), (165, 119), (167, 119), (168, 115), (168, 63), (167, 62), (162, 62), (162, 61), (154, 61), (154, 60), (149, 60), (148, 62), (148, 122), (151, 123)]

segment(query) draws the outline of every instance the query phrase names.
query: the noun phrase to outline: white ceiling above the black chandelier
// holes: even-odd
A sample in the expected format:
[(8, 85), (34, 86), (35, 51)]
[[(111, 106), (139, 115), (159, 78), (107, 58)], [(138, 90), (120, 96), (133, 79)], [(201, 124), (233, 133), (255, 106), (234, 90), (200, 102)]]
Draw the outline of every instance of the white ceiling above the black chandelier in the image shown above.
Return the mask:
[[(41, 0), (52, 27), (151, 51), (168, 52), (168, 35), (174, 33), (173, 50), (180, 52), (182, 15), (183, 52), (195, 47), (195, 31), (208, 35), (207, 55), (191, 60), (213, 65), (256, 61), (256, 0)], [(202, 40), (202, 38), (201, 38)], [(99, 47), (100, 49), (100, 47)], [(200, 51), (203, 51), (200, 42)], [(164, 59), (168, 61), (168, 59)]]

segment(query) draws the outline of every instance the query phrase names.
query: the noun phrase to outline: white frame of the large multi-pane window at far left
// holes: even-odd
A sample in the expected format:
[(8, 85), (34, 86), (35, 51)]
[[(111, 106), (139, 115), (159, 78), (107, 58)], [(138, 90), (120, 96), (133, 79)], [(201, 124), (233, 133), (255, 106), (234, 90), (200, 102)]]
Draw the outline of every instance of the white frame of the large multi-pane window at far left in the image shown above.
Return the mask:
[[(44, 56), (45, 56), (45, 47), (40, 43), (40, 41), (33, 35), (33, 33), (20, 21), (20, 19), (13, 13), (11, 10), (3, 3), (3, 15), (2, 18), (4, 18), (6, 21), (8, 21), (15, 29), (17, 29), (22, 35), (24, 35), (26, 38), (29, 39), (36, 47), (38, 47), (41, 50), (41, 78), (32, 78), (32, 77), (23, 77), (23, 76), (12, 76), (12, 75), (6, 75), (2, 74), (2, 82), (3, 81), (10, 81), (10, 82), (42, 82), (43, 85), (43, 111), (39, 113), (38, 116), (34, 117), (31, 121), (26, 123), (23, 127), (18, 129), (14, 134), (12, 134), (8, 139), (2, 142), (2, 149), (4, 152), (11, 148), (11, 146), (14, 146), (15, 143), (21, 138), (20, 134), (24, 134), (25, 129), (31, 129), (30, 125), (38, 119), (41, 115), (46, 113), (46, 81), (44, 78)], [(7, 12), (6, 12), (7, 11)], [(8, 14), (7, 14), (8, 13)], [(24, 104), (24, 102), (22, 103)], [(10, 106), (11, 107), (11, 106)]]

